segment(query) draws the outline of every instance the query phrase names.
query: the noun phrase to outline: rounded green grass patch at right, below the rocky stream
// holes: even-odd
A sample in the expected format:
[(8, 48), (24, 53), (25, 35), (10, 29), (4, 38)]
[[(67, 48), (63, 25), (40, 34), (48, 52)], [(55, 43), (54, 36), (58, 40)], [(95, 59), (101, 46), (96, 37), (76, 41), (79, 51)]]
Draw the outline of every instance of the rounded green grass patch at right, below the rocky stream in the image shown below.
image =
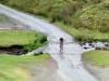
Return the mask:
[(109, 66), (109, 51), (90, 51), (83, 54), (85, 60), (97, 66)]

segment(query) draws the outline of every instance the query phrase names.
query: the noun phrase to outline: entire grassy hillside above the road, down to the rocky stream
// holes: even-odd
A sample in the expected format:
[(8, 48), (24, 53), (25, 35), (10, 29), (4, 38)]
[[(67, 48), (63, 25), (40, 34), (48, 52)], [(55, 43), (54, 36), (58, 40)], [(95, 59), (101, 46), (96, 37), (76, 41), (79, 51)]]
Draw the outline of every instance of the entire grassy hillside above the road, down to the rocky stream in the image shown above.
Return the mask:
[(109, 41), (109, 0), (0, 0), (0, 2), (57, 23), (77, 40), (92, 38)]

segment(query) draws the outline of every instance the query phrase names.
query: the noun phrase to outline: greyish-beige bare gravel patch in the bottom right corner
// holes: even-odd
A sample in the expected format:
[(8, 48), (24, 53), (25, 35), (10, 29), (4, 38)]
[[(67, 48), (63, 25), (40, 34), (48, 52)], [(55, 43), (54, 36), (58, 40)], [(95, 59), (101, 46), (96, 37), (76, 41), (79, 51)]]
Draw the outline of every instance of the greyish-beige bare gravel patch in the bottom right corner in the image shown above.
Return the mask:
[(109, 67), (95, 66), (86, 60), (84, 60), (84, 66), (92, 75), (98, 78), (99, 81), (109, 81)]

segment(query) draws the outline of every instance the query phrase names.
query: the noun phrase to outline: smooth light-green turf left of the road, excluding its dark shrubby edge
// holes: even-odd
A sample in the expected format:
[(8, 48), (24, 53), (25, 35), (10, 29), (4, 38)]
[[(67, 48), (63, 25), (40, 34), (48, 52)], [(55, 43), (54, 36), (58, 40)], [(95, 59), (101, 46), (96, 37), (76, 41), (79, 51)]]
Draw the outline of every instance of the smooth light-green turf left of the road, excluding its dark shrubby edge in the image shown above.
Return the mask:
[(0, 30), (0, 46), (9, 46), (13, 44), (24, 45), (33, 43), (43, 35), (36, 31), (26, 30)]

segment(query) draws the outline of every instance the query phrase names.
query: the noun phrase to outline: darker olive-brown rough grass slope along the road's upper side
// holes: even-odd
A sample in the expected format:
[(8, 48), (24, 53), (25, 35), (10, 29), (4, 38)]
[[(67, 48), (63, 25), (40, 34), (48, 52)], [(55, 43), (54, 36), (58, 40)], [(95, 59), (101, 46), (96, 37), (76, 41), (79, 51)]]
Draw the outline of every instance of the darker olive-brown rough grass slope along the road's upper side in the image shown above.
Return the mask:
[(81, 0), (0, 0), (0, 2), (32, 14), (49, 17), (51, 22), (64, 21), (65, 24), (84, 3)]

